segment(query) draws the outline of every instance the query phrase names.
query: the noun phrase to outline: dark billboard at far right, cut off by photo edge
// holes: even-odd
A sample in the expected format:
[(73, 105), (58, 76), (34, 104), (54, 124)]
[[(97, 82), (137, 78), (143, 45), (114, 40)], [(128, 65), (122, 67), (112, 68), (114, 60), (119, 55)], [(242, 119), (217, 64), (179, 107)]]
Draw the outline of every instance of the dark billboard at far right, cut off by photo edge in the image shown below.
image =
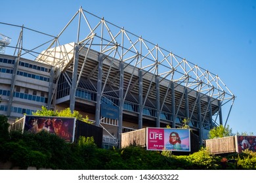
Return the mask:
[(236, 152), (241, 153), (245, 149), (256, 152), (256, 136), (236, 135)]

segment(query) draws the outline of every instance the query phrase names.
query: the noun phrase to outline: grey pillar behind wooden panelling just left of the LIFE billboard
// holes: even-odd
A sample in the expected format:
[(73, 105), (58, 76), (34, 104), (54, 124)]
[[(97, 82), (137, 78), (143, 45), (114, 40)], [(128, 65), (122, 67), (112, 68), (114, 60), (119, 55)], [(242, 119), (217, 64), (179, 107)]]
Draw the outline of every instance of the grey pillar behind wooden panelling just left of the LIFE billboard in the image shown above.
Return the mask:
[(142, 69), (139, 69), (139, 124), (138, 128), (142, 128), (143, 118), (143, 83), (142, 83)]

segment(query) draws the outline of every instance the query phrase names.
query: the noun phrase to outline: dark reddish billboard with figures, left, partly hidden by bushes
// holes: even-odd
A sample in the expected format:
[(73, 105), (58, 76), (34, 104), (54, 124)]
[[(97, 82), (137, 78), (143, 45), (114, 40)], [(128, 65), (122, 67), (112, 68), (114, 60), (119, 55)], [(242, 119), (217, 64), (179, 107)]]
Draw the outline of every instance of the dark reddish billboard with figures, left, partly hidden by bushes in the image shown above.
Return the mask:
[(66, 142), (74, 142), (75, 118), (26, 115), (22, 129), (31, 133), (38, 133), (44, 130), (58, 135)]

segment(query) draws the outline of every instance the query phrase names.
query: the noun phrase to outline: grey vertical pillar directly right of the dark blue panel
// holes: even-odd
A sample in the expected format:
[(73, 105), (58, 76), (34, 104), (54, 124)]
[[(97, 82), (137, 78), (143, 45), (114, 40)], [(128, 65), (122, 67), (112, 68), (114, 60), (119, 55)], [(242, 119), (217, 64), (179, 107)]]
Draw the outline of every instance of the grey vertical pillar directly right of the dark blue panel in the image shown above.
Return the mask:
[(119, 119), (117, 126), (117, 141), (121, 148), (121, 133), (123, 132), (123, 61), (119, 63), (120, 80), (119, 80)]

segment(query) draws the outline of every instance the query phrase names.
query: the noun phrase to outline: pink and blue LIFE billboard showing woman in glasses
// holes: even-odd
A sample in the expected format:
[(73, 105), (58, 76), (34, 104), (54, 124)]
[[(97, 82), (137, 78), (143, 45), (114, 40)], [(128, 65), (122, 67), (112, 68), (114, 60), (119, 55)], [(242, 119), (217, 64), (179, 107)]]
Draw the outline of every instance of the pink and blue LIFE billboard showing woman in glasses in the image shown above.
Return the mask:
[(190, 130), (177, 128), (146, 128), (147, 150), (190, 152)]

